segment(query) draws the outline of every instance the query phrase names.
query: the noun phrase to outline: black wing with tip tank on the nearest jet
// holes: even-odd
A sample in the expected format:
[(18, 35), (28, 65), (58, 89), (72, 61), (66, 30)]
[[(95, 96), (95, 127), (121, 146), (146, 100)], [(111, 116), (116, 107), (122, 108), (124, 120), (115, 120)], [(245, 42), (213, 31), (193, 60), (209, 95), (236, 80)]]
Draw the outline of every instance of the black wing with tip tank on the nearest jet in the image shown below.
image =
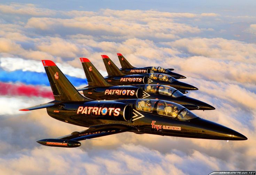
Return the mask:
[(124, 124), (103, 124), (95, 125), (90, 128), (83, 130), (81, 132), (73, 132), (69, 135), (65, 135), (58, 138), (47, 138), (37, 141), (38, 143), (46, 146), (57, 146), (65, 148), (73, 148), (81, 145), (81, 140), (102, 137), (112, 134), (123, 133), (127, 131), (139, 131), (133, 126), (128, 126)]

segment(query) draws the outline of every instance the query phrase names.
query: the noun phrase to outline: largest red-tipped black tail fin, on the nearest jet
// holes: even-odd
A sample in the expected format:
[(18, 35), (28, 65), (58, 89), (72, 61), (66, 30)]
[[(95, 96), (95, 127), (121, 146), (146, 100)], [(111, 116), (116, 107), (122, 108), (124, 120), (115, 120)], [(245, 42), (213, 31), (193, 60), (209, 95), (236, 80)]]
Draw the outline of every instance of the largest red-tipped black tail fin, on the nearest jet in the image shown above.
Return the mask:
[(61, 70), (50, 60), (42, 60), (53, 95), (57, 101), (89, 101), (83, 97), (65, 77)]

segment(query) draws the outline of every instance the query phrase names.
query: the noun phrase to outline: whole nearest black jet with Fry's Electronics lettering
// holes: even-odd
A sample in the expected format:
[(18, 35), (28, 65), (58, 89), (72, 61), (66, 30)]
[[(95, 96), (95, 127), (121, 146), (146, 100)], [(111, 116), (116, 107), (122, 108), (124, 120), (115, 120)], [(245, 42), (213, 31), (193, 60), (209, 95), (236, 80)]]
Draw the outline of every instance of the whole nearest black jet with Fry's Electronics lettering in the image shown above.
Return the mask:
[(48, 115), (54, 119), (88, 127), (80, 132), (37, 141), (42, 145), (73, 148), (80, 146), (79, 141), (82, 140), (123, 132), (247, 140), (244, 135), (230, 128), (197, 117), (177, 103), (149, 99), (91, 101), (76, 90), (54, 62), (42, 60), (42, 63), (55, 100), (21, 111), (46, 108)]

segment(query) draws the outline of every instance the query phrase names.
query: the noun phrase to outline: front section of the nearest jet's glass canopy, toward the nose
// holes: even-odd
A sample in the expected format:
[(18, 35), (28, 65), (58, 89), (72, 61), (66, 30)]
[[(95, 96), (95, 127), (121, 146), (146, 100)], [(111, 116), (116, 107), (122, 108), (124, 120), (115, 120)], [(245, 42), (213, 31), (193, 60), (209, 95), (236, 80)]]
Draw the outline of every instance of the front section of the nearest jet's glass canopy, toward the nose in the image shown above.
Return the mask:
[(168, 101), (158, 102), (157, 113), (163, 116), (173, 117), (181, 120), (189, 120), (197, 117), (191, 111), (184, 108), (184, 106)]

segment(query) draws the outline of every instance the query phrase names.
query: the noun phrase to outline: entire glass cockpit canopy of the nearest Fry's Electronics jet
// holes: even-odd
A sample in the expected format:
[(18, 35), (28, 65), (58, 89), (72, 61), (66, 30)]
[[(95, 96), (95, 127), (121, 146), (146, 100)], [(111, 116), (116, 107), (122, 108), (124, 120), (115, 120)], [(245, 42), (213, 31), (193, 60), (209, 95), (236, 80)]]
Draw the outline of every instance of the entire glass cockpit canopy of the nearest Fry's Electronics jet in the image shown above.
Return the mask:
[(180, 120), (189, 120), (197, 117), (184, 106), (163, 100), (138, 99), (136, 101), (136, 109), (151, 113), (156, 111), (159, 115)]

